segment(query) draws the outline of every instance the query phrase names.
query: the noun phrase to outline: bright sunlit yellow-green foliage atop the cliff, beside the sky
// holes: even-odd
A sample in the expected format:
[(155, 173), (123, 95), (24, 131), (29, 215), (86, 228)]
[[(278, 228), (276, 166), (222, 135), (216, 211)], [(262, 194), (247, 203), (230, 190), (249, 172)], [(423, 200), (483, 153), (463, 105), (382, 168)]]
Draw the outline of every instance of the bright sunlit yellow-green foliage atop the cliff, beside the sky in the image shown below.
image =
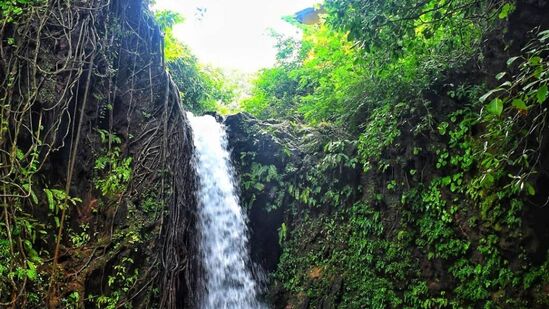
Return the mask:
[(336, 121), (364, 66), (344, 33), (322, 25), (304, 28), (300, 43), (279, 37), (278, 67), (262, 71), (241, 105), (261, 118)]

